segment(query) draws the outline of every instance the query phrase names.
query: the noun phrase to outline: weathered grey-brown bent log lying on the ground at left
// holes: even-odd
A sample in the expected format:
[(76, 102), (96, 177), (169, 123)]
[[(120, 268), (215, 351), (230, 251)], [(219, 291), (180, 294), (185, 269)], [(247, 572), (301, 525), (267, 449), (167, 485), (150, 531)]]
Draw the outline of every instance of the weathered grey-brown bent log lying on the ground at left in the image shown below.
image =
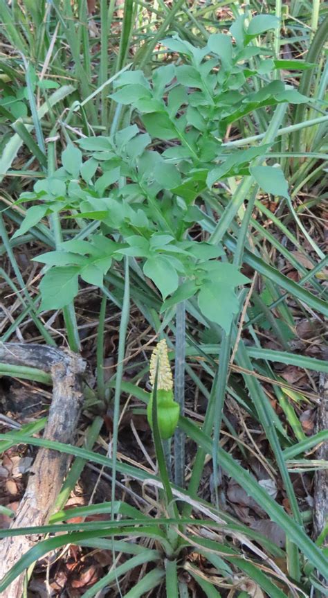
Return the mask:
[[(85, 363), (71, 351), (43, 345), (8, 343), (0, 345), (0, 362), (37, 367), (51, 373), (53, 399), (44, 438), (72, 443), (82, 408), (82, 373)], [(24, 497), (12, 528), (44, 525), (51, 516), (69, 466), (69, 455), (41, 448), (28, 477)], [(0, 578), (22, 554), (35, 545), (31, 536), (5, 538), (0, 544)], [(24, 574), (1, 593), (2, 598), (21, 598)]]

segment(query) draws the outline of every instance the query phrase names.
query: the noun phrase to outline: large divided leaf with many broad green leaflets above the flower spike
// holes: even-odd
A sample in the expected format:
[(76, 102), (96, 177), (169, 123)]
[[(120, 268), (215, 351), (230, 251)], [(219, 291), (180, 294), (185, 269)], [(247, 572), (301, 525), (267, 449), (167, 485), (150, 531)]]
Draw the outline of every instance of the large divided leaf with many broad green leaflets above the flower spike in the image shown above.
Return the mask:
[[(102, 288), (109, 268), (132, 256), (161, 291), (162, 310), (197, 296), (203, 315), (228, 332), (239, 310), (235, 288), (248, 281), (226, 261), (221, 245), (199, 243), (190, 231), (200, 218), (197, 197), (221, 179), (251, 176), (264, 191), (289, 197), (282, 170), (263, 165), (271, 144), (233, 152), (223, 144), (227, 127), (246, 114), (306, 101), (281, 80), (249, 91), (252, 78), (277, 69), (269, 49), (251, 44), (276, 22), (258, 15), (245, 28), (240, 17), (231, 35), (212, 34), (203, 48), (177, 36), (165, 39), (187, 64), (158, 67), (150, 81), (142, 71), (126, 71), (111, 94), (136, 109), (146, 132), (134, 124), (110, 137), (80, 139), (79, 148), (70, 144), (62, 167), (21, 195), (20, 202), (37, 204), (14, 238), (50, 213), (99, 223), (88, 240), (75, 235), (35, 258), (50, 266), (40, 284), (41, 309), (70, 304), (79, 277)], [(250, 68), (257, 56), (259, 64)], [(162, 151), (162, 141), (173, 143)]]

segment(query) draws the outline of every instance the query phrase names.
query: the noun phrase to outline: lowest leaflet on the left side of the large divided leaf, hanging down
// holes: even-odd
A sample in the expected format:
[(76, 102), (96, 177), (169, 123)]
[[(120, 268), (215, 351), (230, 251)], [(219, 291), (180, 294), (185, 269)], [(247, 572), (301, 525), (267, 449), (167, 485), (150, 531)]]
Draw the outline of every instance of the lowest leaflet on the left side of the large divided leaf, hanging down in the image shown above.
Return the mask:
[(53, 267), (48, 270), (39, 285), (42, 310), (60, 309), (69, 305), (78, 294), (78, 266)]

